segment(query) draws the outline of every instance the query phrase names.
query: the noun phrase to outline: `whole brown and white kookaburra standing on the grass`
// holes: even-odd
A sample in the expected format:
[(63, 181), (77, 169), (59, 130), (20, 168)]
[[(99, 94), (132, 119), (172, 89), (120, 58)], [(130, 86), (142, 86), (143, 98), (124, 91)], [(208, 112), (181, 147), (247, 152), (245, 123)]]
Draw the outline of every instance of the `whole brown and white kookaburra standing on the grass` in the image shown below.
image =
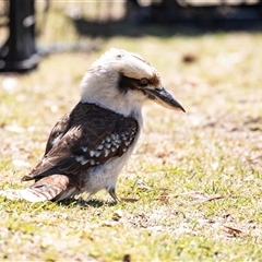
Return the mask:
[(43, 158), (22, 178), (35, 183), (7, 196), (60, 201), (106, 189), (119, 201), (117, 179), (139, 140), (147, 100), (184, 111), (151, 63), (124, 50), (105, 52), (83, 78), (79, 104), (53, 127)]

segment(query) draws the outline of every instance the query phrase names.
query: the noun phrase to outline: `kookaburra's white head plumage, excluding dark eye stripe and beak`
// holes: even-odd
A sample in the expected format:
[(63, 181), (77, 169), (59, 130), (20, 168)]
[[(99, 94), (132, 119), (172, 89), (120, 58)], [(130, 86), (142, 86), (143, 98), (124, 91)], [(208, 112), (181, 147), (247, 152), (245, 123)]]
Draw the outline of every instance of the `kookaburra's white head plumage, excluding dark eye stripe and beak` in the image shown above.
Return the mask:
[(160, 88), (162, 81), (152, 64), (139, 55), (112, 48), (93, 63), (81, 83), (81, 102), (94, 103), (124, 116), (141, 115), (147, 97), (136, 90), (120, 92), (120, 76), (155, 79), (152, 88)]

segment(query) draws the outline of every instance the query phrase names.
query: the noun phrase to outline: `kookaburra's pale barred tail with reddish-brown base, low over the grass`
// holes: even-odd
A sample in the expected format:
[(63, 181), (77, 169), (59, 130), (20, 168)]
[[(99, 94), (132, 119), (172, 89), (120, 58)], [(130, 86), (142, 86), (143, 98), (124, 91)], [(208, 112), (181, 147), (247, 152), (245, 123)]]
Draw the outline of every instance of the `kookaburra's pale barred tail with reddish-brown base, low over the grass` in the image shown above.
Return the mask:
[(0, 191), (0, 195), (8, 199), (24, 199), (29, 202), (41, 202), (47, 200), (60, 201), (73, 196), (75, 193), (76, 188), (70, 184), (70, 178), (63, 175), (44, 177), (26, 189)]

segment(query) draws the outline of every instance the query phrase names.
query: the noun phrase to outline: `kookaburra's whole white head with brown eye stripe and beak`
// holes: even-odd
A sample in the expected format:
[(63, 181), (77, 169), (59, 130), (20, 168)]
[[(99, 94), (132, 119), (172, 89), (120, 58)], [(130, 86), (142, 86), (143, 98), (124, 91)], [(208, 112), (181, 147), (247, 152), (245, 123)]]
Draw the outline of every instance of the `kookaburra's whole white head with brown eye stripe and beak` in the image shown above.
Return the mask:
[(81, 102), (94, 103), (124, 116), (141, 111), (146, 100), (184, 111), (163, 87), (155, 68), (139, 55), (120, 49), (105, 52), (85, 74)]

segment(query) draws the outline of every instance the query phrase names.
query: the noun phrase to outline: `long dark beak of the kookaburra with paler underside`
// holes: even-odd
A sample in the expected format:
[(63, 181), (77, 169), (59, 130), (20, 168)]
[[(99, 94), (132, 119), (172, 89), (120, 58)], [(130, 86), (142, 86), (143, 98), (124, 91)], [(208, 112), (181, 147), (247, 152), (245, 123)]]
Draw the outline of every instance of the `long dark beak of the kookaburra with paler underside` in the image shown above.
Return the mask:
[(157, 104), (170, 109), (182, 110), (186, 112), (183, 107), (164, 87), (162, 90), (147, 88), (145, 92), (148, 95), (148, 98), (153, 99)]

